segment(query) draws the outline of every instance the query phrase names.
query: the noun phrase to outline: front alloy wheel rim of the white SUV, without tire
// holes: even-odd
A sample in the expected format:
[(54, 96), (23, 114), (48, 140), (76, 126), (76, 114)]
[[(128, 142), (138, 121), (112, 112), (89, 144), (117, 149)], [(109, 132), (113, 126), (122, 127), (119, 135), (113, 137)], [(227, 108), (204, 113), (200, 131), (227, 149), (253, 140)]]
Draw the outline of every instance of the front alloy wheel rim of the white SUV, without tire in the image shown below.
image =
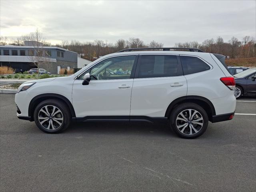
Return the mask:
[(55, 130), (62, 125), (63, 114), (56, 106), (46, 105), (40, 109), (38, 121), (45, 129)]

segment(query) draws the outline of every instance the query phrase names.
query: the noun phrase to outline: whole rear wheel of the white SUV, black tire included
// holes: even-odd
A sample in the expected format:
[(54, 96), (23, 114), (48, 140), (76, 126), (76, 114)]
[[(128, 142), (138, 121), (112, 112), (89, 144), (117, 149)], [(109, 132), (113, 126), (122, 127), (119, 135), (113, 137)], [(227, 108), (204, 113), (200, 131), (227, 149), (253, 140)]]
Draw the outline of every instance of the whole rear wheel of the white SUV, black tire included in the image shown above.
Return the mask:
[(170, 114), (170, 126), (181, 138), (194, 139), (205, 132), (208, 126), (208, 115), (198, 104), (183, 103), (176, 106)]

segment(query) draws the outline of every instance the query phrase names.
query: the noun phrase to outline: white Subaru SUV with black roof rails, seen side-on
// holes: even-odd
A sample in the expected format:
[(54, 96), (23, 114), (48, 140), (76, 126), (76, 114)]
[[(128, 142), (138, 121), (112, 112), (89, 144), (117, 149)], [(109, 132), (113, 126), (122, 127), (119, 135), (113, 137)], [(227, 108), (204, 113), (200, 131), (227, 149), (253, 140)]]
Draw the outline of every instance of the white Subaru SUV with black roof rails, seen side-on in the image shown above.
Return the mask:
[(235, 81), (225, 56), (153, 49), (122, 50), (72, 76), (22, 84), (15, 96), (18, 118), (47, 133), (72, 121), (166, 121), (182, 138), (202, 135), (208, 121), (233, 118)]

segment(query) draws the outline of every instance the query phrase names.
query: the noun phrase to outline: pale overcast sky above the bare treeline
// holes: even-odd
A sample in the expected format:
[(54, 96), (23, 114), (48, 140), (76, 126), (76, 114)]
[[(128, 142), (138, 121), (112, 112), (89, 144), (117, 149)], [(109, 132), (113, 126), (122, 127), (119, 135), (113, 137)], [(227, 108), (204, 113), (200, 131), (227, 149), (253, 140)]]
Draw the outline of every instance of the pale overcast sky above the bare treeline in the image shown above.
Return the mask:
[(46, 41), (116, 42), (136, 37), (173, 46), (222, 36), (256, 36), (256, 1), (10, 1), (0, 0), (0, 35), (38, 27)]

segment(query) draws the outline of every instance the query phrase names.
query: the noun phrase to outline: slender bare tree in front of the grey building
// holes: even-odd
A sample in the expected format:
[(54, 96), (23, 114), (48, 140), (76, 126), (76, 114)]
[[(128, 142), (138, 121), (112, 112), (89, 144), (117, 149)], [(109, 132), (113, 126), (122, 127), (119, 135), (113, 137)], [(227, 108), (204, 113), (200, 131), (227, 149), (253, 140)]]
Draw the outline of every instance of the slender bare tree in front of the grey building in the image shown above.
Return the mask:
[(43, 48), (44, 48), (44, 39), (42, 37), (42, 33), (37, 28), (35, 32), (30, 33), (30, 38), (32, 42), (32, 48), (28, 50), (28, 56), (30, 61), (37, 66), (38, 68), (38, 78), (39, 78), (39, 68), (41, 64), (44, 62), (43, 58)]

